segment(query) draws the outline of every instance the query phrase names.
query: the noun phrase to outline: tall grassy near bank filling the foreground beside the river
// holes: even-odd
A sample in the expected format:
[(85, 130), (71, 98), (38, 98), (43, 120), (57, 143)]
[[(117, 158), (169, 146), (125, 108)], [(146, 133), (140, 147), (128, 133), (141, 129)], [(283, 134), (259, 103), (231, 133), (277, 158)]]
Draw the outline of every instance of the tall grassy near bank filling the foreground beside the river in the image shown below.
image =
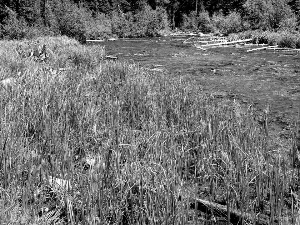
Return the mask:
[(67, 37), (18, 45), (0, 42), (0, 224), (226, 222), (197, 198), (247, 215), (232, 224), (296, 222), (297, 129), (272, 137), (269, 108)]

